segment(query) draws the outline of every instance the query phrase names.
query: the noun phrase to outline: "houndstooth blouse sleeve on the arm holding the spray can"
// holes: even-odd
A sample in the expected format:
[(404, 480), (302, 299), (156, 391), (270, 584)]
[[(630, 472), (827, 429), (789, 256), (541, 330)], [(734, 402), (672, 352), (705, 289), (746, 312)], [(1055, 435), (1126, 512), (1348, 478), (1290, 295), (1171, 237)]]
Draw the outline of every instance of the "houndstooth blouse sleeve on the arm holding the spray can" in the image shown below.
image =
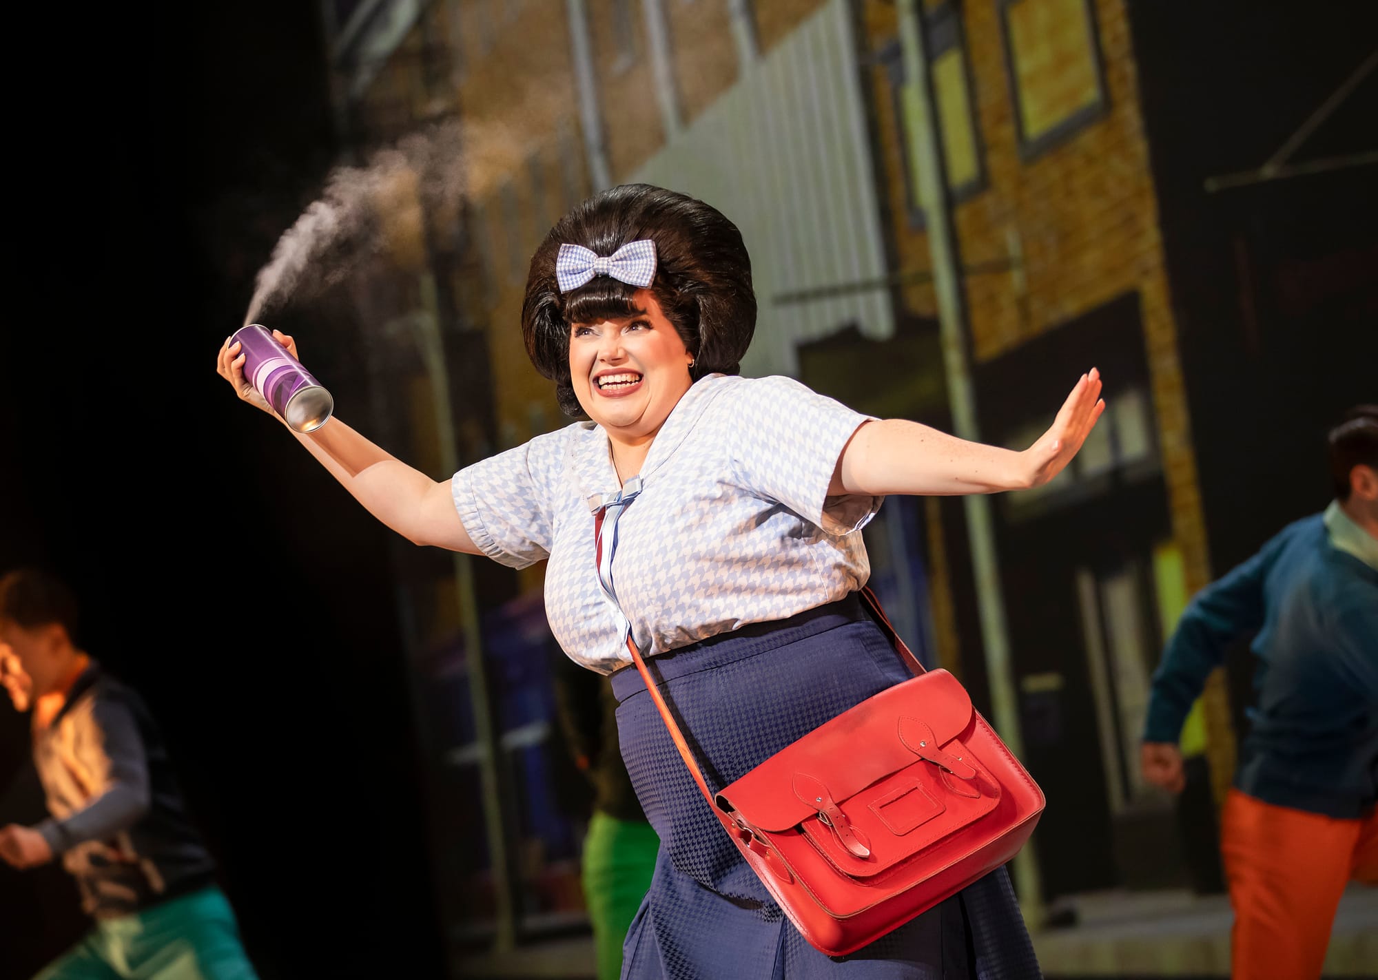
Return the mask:
[(464, 467), (451, 479), (455, 509), (469, 537), (511, 568), (550, 557), (554, 504), (550, 498), (565, 439), (550, 432)]

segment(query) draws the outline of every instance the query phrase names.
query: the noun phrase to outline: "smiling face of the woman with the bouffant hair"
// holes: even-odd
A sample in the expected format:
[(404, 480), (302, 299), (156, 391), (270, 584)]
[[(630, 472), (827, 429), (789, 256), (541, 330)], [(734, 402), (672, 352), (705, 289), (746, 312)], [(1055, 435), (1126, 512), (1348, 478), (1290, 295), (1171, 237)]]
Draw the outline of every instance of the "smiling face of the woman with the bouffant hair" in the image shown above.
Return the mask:
[(655, 293), (638, 289), (633, 303), (642, 312), (569, 326), (569, 377), (579, 405), (620, 442), (653, 436), (693, 384), (693, 355)]

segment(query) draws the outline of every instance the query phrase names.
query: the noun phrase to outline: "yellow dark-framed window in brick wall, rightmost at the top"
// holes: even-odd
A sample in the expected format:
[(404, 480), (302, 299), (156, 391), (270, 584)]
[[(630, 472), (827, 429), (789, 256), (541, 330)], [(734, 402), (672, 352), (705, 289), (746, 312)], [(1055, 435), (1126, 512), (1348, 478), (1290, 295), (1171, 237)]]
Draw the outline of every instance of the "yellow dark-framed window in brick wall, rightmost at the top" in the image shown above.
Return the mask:
[(1090, 0), (999, 0), (1020, 153), (1028, 158), (1105, 111)]

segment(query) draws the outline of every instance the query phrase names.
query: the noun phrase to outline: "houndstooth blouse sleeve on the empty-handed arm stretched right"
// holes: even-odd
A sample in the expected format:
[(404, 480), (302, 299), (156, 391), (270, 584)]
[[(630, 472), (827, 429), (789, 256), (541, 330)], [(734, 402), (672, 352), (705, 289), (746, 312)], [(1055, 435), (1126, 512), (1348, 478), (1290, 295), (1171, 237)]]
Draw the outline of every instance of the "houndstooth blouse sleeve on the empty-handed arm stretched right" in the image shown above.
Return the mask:
[(732, 413), (732, 465), (741, 489), (784, 504), (827, 534), (849, 534), (883, 497), (830, 497), (838, 458), (870, 416), (788, 377), (745, 380), (722, 399)]

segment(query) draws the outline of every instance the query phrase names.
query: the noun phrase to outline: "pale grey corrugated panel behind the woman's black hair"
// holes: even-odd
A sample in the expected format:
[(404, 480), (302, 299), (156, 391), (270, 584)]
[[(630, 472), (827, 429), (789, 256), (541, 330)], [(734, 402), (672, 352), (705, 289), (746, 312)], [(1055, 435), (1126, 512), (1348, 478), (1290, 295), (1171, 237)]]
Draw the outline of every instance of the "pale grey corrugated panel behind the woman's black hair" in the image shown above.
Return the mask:
[(796, 344), (852, 323), (894, 332), (885, 289), (774, 301), (886, 275), (864, 111), (847, 0), (830, 0), (630, 178), (693, 194), (741, 228), (761, 306), (747, 374), (796, 374)]

